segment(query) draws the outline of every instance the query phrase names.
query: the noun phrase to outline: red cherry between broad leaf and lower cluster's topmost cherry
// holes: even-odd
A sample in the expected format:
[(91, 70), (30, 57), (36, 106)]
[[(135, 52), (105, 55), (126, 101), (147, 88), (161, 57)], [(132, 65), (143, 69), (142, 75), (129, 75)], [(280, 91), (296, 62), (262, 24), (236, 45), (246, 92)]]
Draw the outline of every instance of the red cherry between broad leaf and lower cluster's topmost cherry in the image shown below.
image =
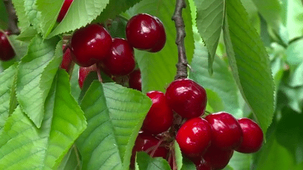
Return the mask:
[(144, 119), (142, 130), (149, 134), (161, 134), (173, 124), (173, 111), (166, 102), (163, 92), (148, 92), (147, 96), (152, 99), (152, 107)]

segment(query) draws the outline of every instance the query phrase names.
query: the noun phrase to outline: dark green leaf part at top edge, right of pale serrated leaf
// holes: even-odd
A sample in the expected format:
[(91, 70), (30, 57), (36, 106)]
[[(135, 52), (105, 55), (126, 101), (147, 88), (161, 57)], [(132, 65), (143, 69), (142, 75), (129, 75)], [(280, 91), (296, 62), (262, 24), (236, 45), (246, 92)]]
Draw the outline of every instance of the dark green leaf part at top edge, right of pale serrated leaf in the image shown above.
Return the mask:
[(102, 11), (95, 21), (105, 22), (107, 19), (114, 19), (116, 15), (125, 12), (128, 8), (134, 6), (136, 3), (142, 0), (112, 0), (109, 1), (105, 10)]

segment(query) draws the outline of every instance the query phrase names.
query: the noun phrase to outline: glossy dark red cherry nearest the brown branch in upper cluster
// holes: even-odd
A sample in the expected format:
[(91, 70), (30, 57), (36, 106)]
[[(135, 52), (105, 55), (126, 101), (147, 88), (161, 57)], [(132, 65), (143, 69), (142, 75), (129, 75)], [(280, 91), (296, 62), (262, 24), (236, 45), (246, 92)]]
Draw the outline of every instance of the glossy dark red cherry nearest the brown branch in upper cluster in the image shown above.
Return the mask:
[(166, 32), (158, 17), (140, 13), (126, 24), (126, 38), (134, 48), (158, 52), (166, 43)]

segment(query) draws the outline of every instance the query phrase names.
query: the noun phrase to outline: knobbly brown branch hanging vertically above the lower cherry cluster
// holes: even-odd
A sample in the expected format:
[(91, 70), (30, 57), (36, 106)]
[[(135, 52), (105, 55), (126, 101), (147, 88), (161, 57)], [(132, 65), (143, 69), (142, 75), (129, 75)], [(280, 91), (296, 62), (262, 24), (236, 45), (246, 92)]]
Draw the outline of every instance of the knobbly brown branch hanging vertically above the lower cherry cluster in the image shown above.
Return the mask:
[(184, 38), (186, 36), (185, 25), (182, 18), (182, 8), (186, 8), (185, 0), (176, 0), (175, 13), (173, 14), (172, 20), (175, 21), (175, 28), (177, 31), (177, 38), (175, 43), (178, 49), (178, 63), (177, 75), (175, 80), (180, 78), (187, 78), (187, 56), (185, 52)]

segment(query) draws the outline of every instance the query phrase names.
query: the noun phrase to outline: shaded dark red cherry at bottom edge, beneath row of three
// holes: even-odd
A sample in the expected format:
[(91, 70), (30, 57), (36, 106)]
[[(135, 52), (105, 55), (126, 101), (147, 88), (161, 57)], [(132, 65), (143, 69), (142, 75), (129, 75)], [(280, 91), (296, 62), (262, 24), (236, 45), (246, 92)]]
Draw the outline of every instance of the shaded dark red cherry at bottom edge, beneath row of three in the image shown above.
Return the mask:
[(207, 152), (203, 155), (203, 159), (210, 164), (212, 170), (224, 169), (233, 154), (234, 150), (220, 150), (210, 146)]

